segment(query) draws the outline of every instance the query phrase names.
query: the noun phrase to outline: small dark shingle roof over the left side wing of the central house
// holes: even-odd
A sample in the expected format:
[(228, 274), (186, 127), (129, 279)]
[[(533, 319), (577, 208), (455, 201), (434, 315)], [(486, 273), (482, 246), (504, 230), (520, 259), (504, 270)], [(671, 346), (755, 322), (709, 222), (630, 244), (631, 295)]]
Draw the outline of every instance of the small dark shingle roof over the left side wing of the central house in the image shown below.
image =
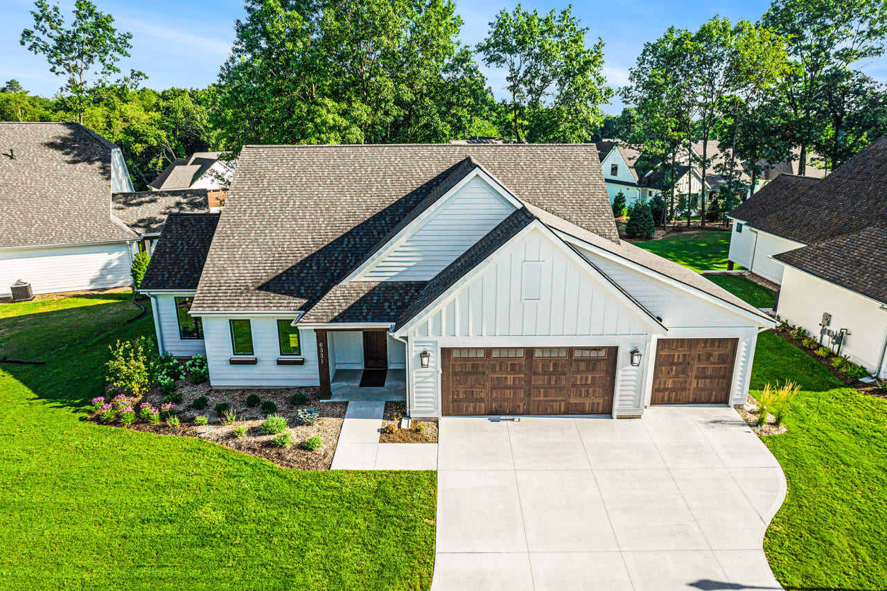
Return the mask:
[(219, 214), (169, 214), (140, 288), (197, 289), (218, 221)]

